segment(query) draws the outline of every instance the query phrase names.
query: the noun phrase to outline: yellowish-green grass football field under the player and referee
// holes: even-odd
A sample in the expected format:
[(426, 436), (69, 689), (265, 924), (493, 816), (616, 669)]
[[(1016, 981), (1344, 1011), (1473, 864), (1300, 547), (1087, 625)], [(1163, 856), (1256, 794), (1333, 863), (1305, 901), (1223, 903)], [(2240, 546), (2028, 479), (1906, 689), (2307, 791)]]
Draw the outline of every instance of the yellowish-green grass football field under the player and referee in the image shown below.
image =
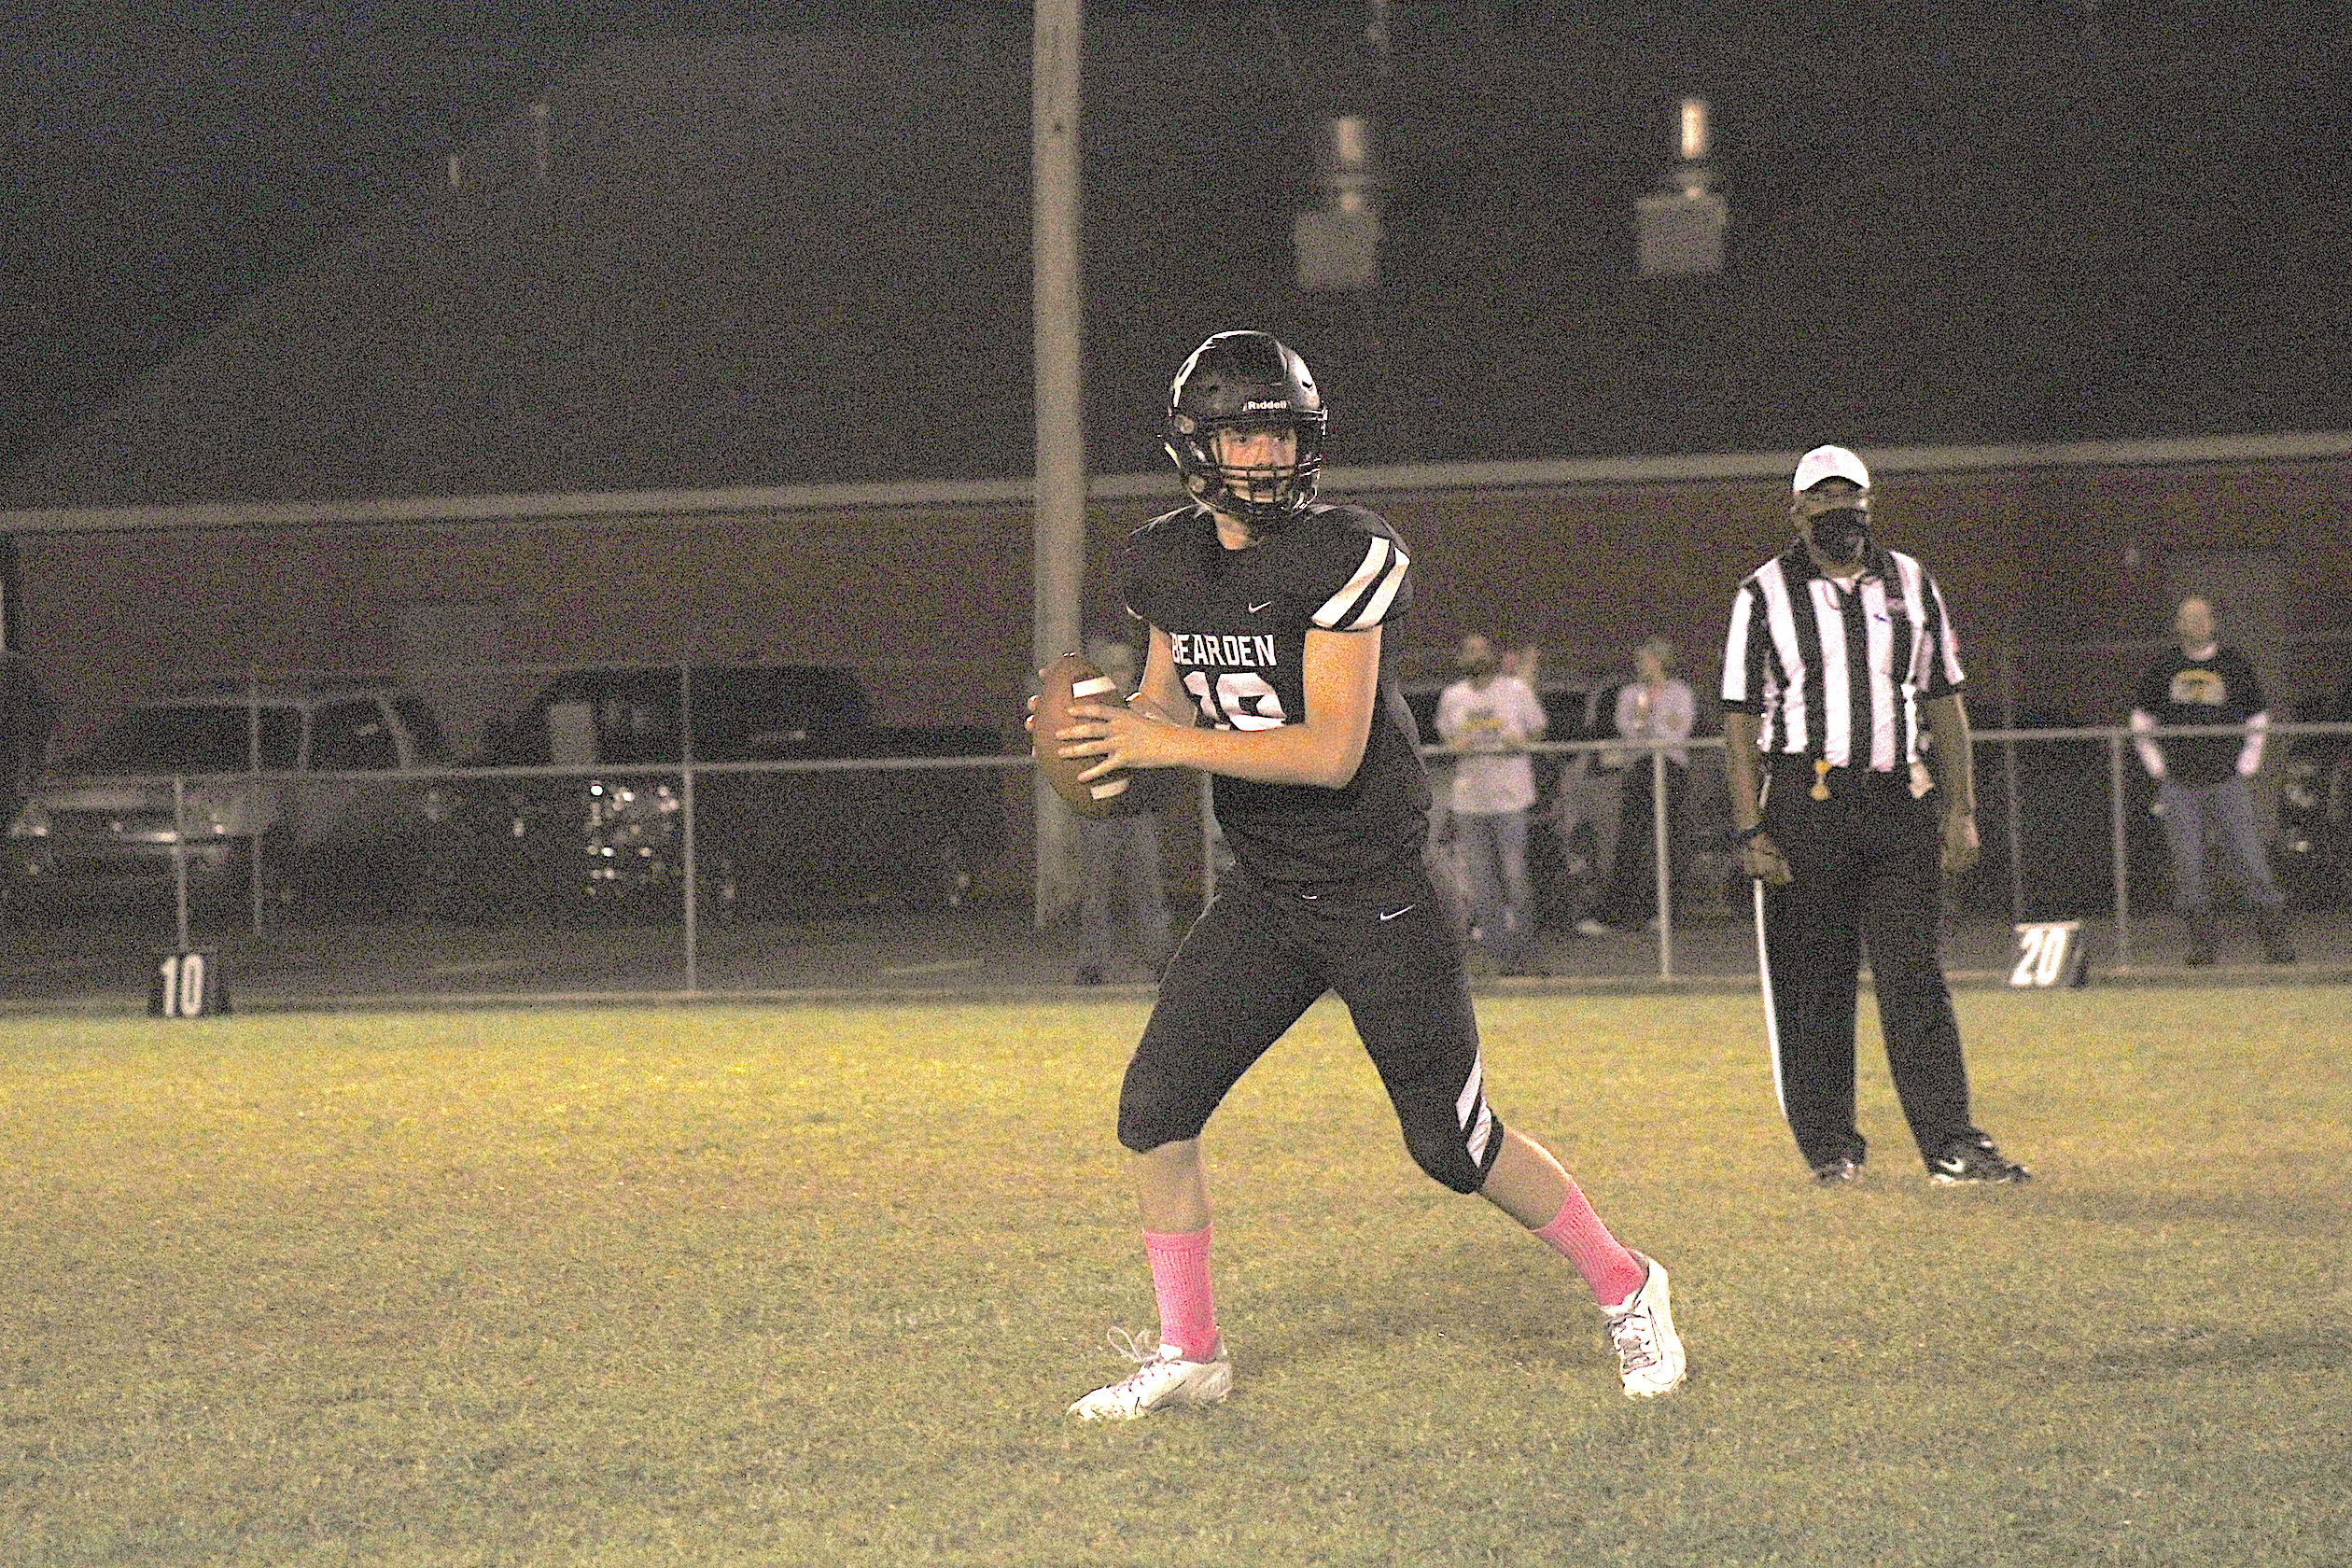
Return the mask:
[(1209, 1135), (1232, 1401), (1112, 1429), (1131, 1001), (9, 1020), (0, 1561), (2343, 1566), (2347, 1001), (1962, 997), (1983, 1192), (1884, 1065), (1806, 1185), (1750, 997), (1486, 1001), (1658, 1403), (1327, 1004)]

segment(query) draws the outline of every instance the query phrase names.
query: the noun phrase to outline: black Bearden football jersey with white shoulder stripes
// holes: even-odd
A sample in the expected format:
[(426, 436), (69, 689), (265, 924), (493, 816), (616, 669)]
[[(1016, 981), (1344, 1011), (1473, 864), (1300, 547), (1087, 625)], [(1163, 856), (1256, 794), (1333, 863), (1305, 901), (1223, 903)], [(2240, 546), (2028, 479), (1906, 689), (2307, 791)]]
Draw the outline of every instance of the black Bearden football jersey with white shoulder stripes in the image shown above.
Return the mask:
[[(1202, 508), (1167, 512), (1127, 538), (1120, 592), (1167, 632), (1192, 722), (1207, 729), (1303, 722), (1308, 630), (1371, 630), (1414, 599), (1404, 545), (1359, 505), (1310, 505), (1249, 550), (1225, 550)], [(1268, 882), (1378, 879), (1414, 860), (1430, 825), (1416, 738), (1395, 642), (1383, 639), (1355, 778), (1338, 790), (1216, 778), (1216, 820), (1235, 858)]]

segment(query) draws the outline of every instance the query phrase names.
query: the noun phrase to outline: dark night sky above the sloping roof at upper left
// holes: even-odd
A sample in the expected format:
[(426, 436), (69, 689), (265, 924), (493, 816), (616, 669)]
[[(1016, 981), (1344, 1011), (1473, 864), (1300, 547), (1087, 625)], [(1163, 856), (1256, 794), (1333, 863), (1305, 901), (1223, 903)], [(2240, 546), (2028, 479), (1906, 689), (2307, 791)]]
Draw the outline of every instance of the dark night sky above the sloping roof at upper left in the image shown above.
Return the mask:
[(172, 357), (583, 42), (527, 12), (470, 21), (261, 0), (12, 26), (0, 451)]

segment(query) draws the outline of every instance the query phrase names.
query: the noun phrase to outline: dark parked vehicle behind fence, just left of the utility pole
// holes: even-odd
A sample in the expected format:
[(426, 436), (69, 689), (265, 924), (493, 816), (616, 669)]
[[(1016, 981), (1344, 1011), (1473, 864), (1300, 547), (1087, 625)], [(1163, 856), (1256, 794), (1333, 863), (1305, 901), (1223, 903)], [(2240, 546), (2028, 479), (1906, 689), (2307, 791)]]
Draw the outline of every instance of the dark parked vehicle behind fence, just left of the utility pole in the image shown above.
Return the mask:
[[(496, 724), (475, 759), (485, 769), (572, 771), (449, 780), (428, 907), (482, 922), (583, 910), (677, 914), (687, 790), (684, 776), (666, 769), (689, 755), (696, 764), (743, 764), (1000, 750), (997, 731), (983, 726), (875, 724), (858, 677), (840, 668), (574, 670)], [(950, 905), (1007, 846), (1007, 785), (995, 769), (696, 766), (691, 804), (696, 905), (706, 914)]]

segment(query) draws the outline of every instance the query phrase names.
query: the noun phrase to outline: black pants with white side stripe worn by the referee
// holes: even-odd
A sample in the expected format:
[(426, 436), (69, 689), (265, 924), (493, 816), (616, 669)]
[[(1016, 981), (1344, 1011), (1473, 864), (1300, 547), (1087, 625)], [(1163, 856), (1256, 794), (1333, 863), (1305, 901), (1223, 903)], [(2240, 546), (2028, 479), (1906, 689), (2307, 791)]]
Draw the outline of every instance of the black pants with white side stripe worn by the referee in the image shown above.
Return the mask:
[(1922, 1159), (1969, 1126), (1969, 1070), (1943, 980), (1940, 799), (1912, 797), (1900, 773), (1771, 766), (1764, 830), (1795, 882), (1757, 884), (1757, 943), (1773, 1086), (1797, 1152), (1818, 1166), (1860, 1159), (1853, 1126), (1853, 1020), (1863, 954), (1903, 1119)]

